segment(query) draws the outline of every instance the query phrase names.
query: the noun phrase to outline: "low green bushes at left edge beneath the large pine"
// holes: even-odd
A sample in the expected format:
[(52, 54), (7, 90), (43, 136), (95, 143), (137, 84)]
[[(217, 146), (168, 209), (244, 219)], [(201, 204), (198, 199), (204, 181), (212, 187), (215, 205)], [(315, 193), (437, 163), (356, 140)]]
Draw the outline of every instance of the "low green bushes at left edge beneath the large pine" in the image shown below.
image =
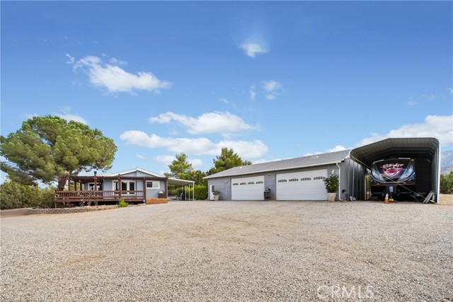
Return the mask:
[(49, 208), (54, 204), (55, 187), (35, 187), (6, 181), (0, 185), (0, 209)]

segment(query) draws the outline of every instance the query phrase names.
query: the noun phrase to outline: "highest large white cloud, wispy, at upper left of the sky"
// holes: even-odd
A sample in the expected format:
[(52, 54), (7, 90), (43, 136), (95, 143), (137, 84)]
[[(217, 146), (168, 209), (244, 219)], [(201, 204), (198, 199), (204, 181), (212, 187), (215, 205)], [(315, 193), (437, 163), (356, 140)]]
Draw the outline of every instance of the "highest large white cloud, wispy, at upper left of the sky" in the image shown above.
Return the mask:
[[(112, 60), (110, 59), (110, 62)], [(122, 62), (117, 61), (115, 62)], [(134, 90), (155, 91), (169, 88), (172, 83), (160, 81), (150, 72), (139, 71), (130, 74), (119, 66), (105, 64), (102, 59), (86, 56), (74, 64), (74, 69), (81, 69), (88, 75), (90, 83), (96, 87), (106, 88), (109, 92), (129, 92)]]

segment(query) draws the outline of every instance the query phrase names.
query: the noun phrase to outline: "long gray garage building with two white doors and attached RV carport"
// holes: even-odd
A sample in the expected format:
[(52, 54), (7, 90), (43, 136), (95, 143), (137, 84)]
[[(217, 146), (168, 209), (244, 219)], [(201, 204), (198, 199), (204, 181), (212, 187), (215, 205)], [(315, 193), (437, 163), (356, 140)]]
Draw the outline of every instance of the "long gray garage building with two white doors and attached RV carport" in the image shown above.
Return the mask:
[[(440, 147), (433, 138), (384, 139), (356, 149), (244, 165), (206, 177), (212, 191), (223, 200), (264, 200), (265, 189), (273, 200), (327, 200), (323, 180), (340, 178), (338, 198), (368, 199), (372, 161), (386, 158), (417, 158), (424, 179), (423, 190), (439, 193)], [(420, 173), (421, 175), (421, 173)], [(428, 176), (426, 176), (428, 175)], [(425, 192), (426, 193), (426, 192)]]

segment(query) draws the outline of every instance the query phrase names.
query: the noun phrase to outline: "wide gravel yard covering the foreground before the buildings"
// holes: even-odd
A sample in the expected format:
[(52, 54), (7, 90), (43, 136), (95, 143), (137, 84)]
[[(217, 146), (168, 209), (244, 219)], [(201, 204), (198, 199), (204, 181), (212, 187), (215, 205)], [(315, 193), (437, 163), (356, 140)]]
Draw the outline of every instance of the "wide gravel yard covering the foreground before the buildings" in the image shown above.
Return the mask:
[(1, 301), (452, 301), (453, 207), (170, 202), (1, 219)]

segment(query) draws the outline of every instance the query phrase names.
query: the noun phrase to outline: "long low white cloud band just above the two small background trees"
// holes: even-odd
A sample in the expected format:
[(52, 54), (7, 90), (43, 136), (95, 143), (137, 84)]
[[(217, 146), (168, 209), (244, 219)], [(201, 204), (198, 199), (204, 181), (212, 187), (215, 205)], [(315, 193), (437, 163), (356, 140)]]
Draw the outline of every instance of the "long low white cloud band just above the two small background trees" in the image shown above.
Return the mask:
[(186, 153), (197, 156), (216, 156), (219, 155), (223, 147), (231, 148), (244, 160), (251, 160), (262, 157), (267, 151), (262, 141), (219, 141), (214, 143), (205, 137), (188, 139), (188, 138), (165, 138), (156, 134), (148, 135), (145, 132), (130, 130), (123, 132), (120, 139), (127, 144), (144, 146), (151, 149), (165, 148), (172, 153)]

